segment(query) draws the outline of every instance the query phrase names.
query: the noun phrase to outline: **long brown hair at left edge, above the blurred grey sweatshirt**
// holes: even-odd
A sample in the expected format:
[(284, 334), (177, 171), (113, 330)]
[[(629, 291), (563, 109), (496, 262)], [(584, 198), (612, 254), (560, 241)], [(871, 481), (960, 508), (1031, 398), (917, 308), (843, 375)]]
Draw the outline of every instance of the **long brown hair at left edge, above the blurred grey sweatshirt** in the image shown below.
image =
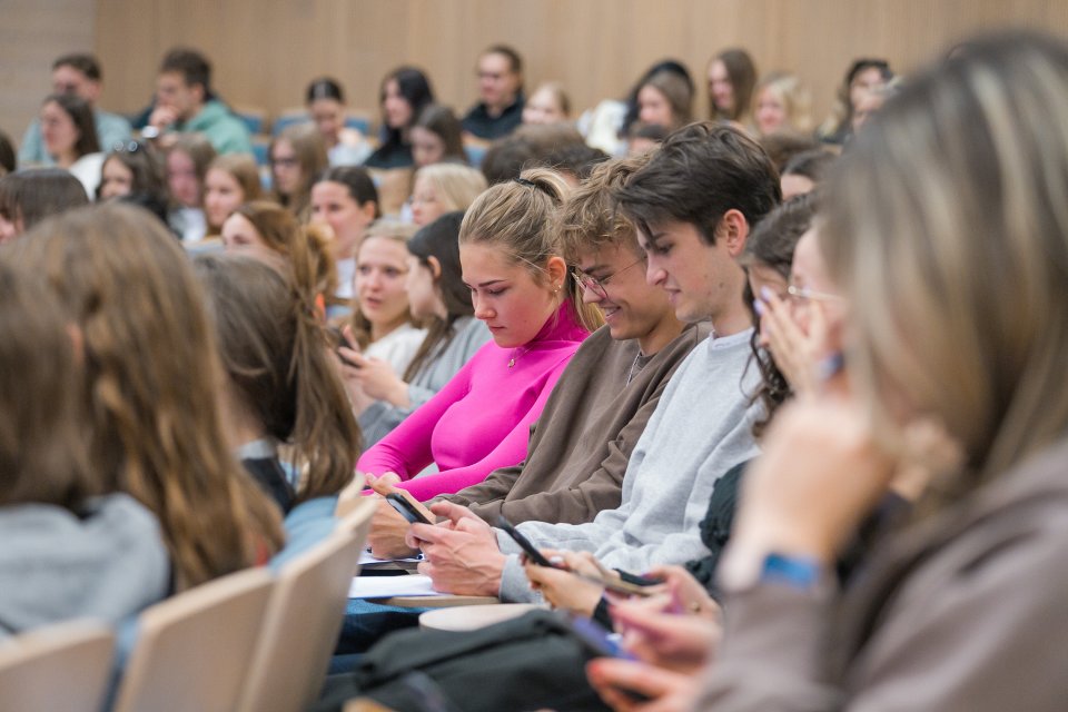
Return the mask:
[(98, 488), (77, 408), (81, 370), (56, 296), (0, 261), (0, 507), (77, 510)]

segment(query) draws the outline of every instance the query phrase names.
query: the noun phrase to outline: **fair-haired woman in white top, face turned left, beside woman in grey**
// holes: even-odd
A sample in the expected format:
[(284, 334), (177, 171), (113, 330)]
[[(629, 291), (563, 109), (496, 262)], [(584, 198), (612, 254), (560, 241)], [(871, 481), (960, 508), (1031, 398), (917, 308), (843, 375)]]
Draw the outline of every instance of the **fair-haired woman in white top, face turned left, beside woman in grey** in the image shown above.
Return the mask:
[[(379, 220), (367, 231), (356, 255), (354, 291), (356, 304), (345, 328), (342, 358), (350, 364), (362, 363), (358, 356), (387, 365), (394, 374), (408, 369), (426, 330), (408, 309), (405, 288), (408, 274), (408, 238), (415, 233), (411, 225)], [(356, 368), (358, 366), (348, 366)], [(360, 379), (347, 378), (357, 413), (369, 405), (368, 396), (359, 387)]]

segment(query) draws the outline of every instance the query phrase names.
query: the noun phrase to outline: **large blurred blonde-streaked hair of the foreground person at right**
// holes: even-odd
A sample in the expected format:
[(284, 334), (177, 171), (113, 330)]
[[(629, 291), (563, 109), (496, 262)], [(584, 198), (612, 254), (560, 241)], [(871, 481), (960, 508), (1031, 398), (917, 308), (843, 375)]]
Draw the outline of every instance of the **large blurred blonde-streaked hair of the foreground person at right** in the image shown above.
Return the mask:
[(966, 46), (866, 125), (825, 194), (821, 247), (851, 304), (850, 375), (883, 439), (887, 394), (998, 475), (1068, 427), (1068, 47)]

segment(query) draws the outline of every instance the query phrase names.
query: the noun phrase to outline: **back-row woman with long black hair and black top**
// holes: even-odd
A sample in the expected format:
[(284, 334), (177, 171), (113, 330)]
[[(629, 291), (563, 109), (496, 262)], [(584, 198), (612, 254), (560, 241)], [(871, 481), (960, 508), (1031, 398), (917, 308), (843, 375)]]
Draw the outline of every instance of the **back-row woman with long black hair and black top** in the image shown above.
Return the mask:
[(364, 164), (368, 168), (408, 168), (412, 157), (412, 127), (425, 107), (434, 102), (431, 82), (418, 69), (400, 67), (382, 80), (382, 138)]

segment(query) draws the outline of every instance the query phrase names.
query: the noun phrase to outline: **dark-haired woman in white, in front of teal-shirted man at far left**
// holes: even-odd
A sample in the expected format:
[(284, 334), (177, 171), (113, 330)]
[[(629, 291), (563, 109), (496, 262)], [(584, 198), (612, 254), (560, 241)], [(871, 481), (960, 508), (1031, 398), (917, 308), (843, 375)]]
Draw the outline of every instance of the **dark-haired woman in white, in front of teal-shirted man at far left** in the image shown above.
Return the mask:
[(95, 196), (103, 154), (89, 103), (76, 95), (52, 95), (41, 105), (40, 127), (51, 162), (69, 170), (86, 195)]

